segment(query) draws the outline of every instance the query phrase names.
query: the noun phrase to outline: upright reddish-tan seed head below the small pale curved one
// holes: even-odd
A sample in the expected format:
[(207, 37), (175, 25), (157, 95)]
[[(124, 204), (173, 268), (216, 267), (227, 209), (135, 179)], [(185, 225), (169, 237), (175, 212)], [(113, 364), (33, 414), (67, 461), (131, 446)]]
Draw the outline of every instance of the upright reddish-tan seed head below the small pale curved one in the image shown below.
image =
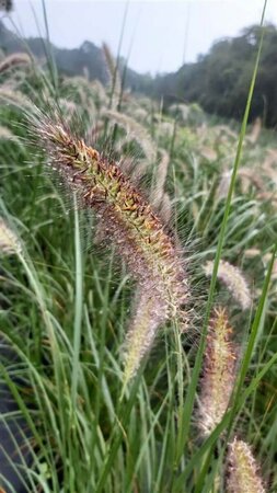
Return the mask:
[(238, 351), (231, 335), (227, 311), (216, 309), (208, 328), (199, 398), (198, 426), (205, 436), (222, 420), (233, 391)]

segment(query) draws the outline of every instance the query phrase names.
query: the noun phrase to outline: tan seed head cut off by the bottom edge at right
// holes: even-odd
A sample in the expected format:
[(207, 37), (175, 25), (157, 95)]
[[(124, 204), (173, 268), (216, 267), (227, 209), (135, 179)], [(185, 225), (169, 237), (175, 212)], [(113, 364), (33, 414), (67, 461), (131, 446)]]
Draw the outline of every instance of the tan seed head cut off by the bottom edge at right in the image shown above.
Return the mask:
[(228, 493), (265, 493), (250, 446), (236, 437), (229, 445)]

